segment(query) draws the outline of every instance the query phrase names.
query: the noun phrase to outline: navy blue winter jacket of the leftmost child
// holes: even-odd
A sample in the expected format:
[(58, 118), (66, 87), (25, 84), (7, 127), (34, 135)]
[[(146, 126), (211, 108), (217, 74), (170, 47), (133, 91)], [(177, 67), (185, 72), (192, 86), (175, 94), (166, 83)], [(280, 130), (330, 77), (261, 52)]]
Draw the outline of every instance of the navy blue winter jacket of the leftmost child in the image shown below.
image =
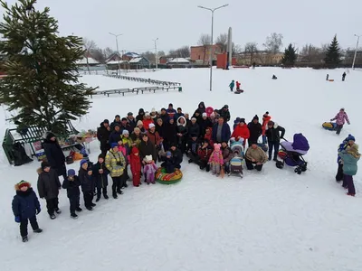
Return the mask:
[(40, 211), (40, 203), (33, 188), (27, 191), (16, 191), (13, 199), (13, 212), (15, 217), (20, 217), (21, 220), (33, 218), (36, 215), (36, 210)]

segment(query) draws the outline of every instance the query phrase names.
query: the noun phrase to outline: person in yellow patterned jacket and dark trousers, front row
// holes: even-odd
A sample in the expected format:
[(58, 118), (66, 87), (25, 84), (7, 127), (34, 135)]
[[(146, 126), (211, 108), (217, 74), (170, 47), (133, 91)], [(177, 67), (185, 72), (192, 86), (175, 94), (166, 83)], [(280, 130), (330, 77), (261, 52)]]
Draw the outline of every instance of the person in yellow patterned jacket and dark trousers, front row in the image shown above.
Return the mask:
[(126, 167), (126, 159), (123, 154), (119, 153), (119, 145), (112, 143), (110, 151), (106, 155), (106, 167), (110, 171), (112, 178), (112, 196), (117, 199), (117, 193), (123, 194), (121, 189), (122, 175)]

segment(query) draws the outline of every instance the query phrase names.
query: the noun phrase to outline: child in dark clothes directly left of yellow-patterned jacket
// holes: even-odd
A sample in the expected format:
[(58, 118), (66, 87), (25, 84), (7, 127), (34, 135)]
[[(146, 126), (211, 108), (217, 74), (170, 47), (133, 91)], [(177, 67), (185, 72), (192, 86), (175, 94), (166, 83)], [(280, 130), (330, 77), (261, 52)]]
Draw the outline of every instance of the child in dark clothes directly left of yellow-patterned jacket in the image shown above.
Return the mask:
[(108, 200), (109, 196), (107, 194), (107, 186), (108, 186), (108, 174), (110, 174), (109, 170), (104, 163), (105, 156), (104, 154), (98, 155), (97, 164), (93, 165), (93, 176), (95, 178), (96, 187), (97, 187), (97, 199), (96, 202), (100, 201), (100, 195), (103, 192), (104, 199)]

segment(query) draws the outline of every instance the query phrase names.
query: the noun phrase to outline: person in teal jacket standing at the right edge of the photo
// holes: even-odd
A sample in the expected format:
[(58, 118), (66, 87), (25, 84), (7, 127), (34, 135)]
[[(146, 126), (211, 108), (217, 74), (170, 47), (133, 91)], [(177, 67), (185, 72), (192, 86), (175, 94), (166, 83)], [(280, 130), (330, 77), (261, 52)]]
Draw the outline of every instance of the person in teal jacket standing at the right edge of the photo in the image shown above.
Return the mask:
[(353, 176), (357, 174), (357, 162), (361, 157), (358, 154), (358, 145), (350, 145), (346, 150), (339, 152), (339, 156), (343, 160), (343, 184), (342, 186), (348, 189), (348, 196), (355, 196), (356, 189), (353, 183)]

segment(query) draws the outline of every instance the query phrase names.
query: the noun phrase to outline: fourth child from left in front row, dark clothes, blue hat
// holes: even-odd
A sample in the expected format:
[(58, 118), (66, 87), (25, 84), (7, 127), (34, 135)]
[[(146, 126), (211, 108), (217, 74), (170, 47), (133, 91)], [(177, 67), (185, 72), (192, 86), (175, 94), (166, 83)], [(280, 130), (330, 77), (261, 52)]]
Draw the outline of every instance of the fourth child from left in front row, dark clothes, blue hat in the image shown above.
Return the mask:
[(92, 202), (94, 197), (93, 192), (95, 185), (92, 176), (93, 172), (88, 163), (88, 160), (81, 160), (81, 168), (79, 170), (78, 176), (81, 181), (81, 192), (83, 192), (85, 208), (87, 210), (93, 210), (93, 207), (96, 206), (96, 204)]

